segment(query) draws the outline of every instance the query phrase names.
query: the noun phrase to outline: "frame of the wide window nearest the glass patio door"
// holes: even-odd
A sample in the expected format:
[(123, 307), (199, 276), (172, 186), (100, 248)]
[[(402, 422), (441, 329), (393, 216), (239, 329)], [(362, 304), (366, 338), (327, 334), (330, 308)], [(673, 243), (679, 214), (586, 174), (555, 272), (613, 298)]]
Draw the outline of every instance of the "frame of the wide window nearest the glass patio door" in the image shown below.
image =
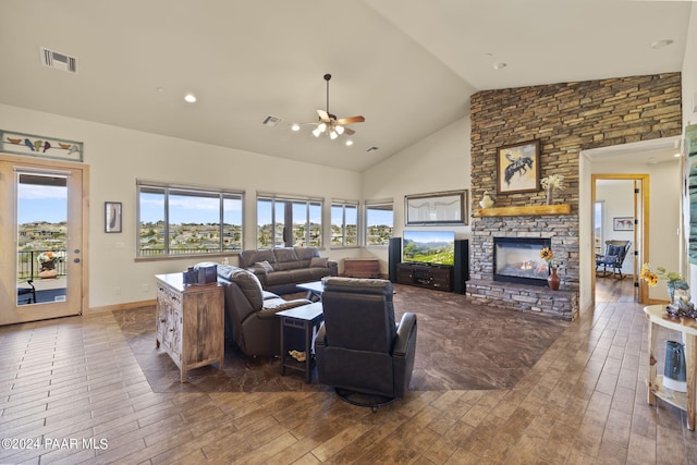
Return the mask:
[[(162, 195), (162, 215), (163, 218), (161, 221), (164, 223), (163, 232), (162, 232), (162, 249), (159, 254), (144, 254), (143, 250), (146, 250), (140, 247), (142, 240), (142, 194), (148, 193), (150, 194), (159, 194)], [(172, 231), (170, 224), (172, 211), (170, 209), (170, 198), (172, 196), (189, 196), (189, 197), (199, 197), (206, 199), (217, 199), (219, 203), (218, 206), (218, 248), (211, 249), (210, 247), (207, 250), (201, 249), (200, 252), (191, 252), (191, 253), (181, 253), (173, 248), (172, 246)], [(232, 255), (239, 254), (244, 249), (244, 228), (245, 228), (245, 215), (244, 215), (244, 191), (239, 189), (229, 189), (229, 188), (216, 188), (209, 186), (195, 186), (195, 185), (185, 185), (185, 184), (171, 184), (171, 183), (162, 183), (162, 182), (154, 182), (154, 181), (145, 181), (145, 180), (136, 180), (136, 246), (135, 254), (136, 259), (140, 260), (152, 260), (152, 259), (168, 259), (168, 258), (183, 258), (183, 257), (200, 257), (200, 256), (221, 256), (221, 255)], [(231, 227), (237, 228), (240, 233), (240, 240), (235, 241), (234, 244), (239, 244), (237, 247), (225, 248), (225, 236), (230, 233), (230, 231), (225, 228), (225, 200), (234, 200), (240, 205), (240, 224), (231, 224)], [(160, 250), (160, 249), (154, 249)]]

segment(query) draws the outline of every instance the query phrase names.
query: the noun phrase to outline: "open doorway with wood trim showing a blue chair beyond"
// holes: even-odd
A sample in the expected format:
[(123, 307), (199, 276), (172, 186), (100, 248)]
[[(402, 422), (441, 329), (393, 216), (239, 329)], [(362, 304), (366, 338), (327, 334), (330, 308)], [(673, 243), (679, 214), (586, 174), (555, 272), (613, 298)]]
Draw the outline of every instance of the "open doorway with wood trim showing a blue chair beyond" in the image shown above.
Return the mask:
[(595, 302), (645, 302), (648, 195), (648, 174), (592, 175)]

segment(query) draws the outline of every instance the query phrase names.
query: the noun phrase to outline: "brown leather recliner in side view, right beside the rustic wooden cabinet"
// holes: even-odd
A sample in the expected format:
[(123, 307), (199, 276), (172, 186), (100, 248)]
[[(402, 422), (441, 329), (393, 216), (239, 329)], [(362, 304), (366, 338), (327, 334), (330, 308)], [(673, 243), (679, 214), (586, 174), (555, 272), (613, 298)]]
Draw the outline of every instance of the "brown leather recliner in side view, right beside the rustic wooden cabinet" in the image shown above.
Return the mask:
[(285, 301), (264, 291), (253, 272), (230, 265), (218, 266), (218, 282), (224, 286), (225, 338), (248, 356), (279, 355), (281, 333), (276, 314), (310, 302)]

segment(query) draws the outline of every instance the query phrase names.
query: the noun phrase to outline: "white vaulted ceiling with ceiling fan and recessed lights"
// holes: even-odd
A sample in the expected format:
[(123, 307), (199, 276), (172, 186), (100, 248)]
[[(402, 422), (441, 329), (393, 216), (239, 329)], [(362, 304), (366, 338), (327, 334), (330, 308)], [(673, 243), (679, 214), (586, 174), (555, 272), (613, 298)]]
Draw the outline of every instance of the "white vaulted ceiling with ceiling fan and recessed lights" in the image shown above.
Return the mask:
[[(465, 117), (477, 90), (680, 71), (690, 5), (2, 0), (0, 103), (360, 172)], [(39, 47), (78, 73), (44, 68)], [(366, 119), (352, 147), (290, 130), (326, 108), (326, 73), (330, 111)]]

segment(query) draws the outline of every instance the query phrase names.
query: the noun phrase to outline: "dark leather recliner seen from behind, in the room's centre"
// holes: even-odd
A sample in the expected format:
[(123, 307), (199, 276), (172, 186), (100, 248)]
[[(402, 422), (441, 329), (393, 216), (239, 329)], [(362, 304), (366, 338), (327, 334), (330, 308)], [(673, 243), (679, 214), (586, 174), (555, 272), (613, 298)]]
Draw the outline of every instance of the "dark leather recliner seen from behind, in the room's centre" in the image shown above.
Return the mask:
[(416, 355), (416, 315), (394, 323), (392, 283), (325, 278), (325, 322), (315, 339), (317, 378), (345, 401), (377, 409), (403, 397)]

